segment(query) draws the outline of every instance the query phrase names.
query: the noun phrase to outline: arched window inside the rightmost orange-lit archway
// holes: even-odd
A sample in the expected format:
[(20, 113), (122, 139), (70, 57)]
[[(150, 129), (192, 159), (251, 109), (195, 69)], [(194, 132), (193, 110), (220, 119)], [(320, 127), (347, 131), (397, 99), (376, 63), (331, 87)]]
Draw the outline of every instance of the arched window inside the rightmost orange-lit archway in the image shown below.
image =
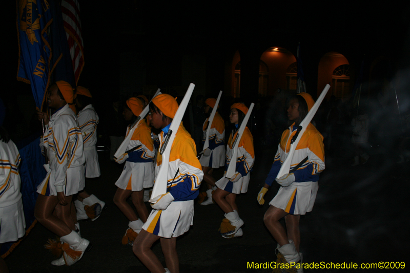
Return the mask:
[(351, 95), (349, 65), (338, 66), (332, 75), (332, 93), (337, 99), (347, 99)]

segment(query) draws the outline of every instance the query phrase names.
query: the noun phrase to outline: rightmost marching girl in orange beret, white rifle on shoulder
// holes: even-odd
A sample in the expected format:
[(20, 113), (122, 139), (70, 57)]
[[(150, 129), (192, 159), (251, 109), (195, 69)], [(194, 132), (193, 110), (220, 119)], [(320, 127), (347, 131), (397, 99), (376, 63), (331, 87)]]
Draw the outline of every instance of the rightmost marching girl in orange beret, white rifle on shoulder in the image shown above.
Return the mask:
[[(309, 123), (292, 157), (291, 167), (293, 169), (289, 174), (276, 178), (290, 150), (291, 141), (300, 122), (311, 110), (314, 103), (311, 95), (307, 93), (299, 93), (291, 98), (287, 112), (289, 120), (293, 123), (282, 134), (271, 171), (258, 194), (258, 202), (263, 204), (263, 197), (272, 182), (276, 179), (281, 185), (278, 193), (269, 203), (270, 207), (263, 219), (278, 243), (278, 262), (283, 261), (283, 259), (288, 263), (301, 261), (302, 254), (299, 253), (300, 215), (312, 211), (318, 190), (319, 174), (324, 170), (323, 136), (312, 123)], [(279, 222), (283, 217), (286, 229)], [(302, 272), (302, 270), (300, 268), (298, 272)]]

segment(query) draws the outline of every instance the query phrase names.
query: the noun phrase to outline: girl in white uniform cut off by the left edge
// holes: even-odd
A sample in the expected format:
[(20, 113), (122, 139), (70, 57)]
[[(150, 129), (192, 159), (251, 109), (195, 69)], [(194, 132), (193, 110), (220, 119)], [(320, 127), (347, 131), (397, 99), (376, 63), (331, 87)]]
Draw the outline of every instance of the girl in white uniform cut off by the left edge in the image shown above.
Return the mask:
[[(3, 243), (17, 241), (26, 234), (17, 147), (2, 127), (6, 108), (0, 99), (0, 249)], [(0, 272), (8, 272), (0, 256)]]

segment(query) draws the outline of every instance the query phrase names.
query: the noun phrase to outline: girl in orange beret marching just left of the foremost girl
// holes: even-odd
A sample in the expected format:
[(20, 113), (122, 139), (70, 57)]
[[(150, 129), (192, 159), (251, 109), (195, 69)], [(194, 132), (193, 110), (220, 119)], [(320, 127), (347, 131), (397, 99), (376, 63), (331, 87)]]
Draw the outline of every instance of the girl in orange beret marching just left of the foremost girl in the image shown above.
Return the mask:
[[(133, 123), (141, 112), (142, 103), (139, 99), (133, 97), (127, 100), (127, 107), (123, 113), (126, 120)], [(129, 133), (130, 129), (127, 127), (127, 135)], [(151, 129), (145, 119), (142, 119), (138, 127), (135, 128), (127, 151), (132, 152), (125, 153), (116, 160), (118, 163), (124, 161), (126, 163), (124, 171), (115, 182), (118, 188), (114, 196), (114, 203), (130, 221), (127, 232), (122, 238), (122, 244), (132, 245), (148, 218), (148, 209), (144, 203), (144, 188), (151, 187), (154, 182), (154, 165), (152, 163), (154, 159), (154, 141), (151, 138)], [(139, 219), (127, 202), (130, 195)]]

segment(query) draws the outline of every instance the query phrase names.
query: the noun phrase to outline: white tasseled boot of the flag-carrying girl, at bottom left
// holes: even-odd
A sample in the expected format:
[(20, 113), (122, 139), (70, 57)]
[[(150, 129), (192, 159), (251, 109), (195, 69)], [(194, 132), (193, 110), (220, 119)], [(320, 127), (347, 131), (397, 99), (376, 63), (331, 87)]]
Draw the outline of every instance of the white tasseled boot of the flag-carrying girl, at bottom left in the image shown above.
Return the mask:
[[(84, 255), (84, 251), (89, 247), (90, 242), (87, 239), (81, 238), (76, 232), (72, 231), (66, 236), (60, 238), (61, 243), (63, 243), (63, 257), (58, 260), (52, 261), (52, 265), (73, 265), (78, 262)], [(72, 250), (79, 251), (79, 256), (71, 257), (68, 253)], [(64, 263), (61, 263), (61, 259)]]

